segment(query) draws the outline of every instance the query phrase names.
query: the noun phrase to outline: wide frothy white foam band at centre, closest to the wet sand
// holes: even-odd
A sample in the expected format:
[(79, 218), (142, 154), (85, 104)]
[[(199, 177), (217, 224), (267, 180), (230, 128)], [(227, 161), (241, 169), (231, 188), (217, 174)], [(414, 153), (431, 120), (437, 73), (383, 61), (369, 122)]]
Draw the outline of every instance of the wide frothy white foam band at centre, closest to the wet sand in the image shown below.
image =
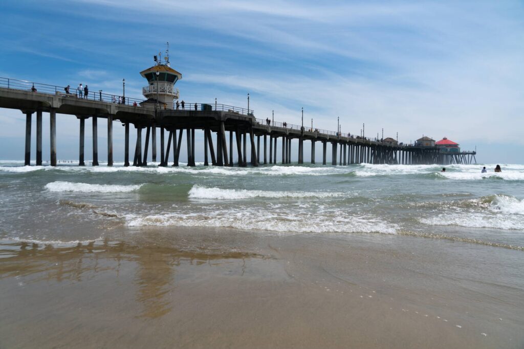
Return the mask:
[(391, 224), (374, 217), (350, 216), (343, 211), (332, 214), (311, 212), (260, 211), (248, 208), (219, 210), (205, 213), (169, 212), (157, 215), (127, 215), (130, 227), (182, 226), (223, 227), (246, 230), (266, 230), (289, 233), (354, 233), (379, 232), (394, 234)]

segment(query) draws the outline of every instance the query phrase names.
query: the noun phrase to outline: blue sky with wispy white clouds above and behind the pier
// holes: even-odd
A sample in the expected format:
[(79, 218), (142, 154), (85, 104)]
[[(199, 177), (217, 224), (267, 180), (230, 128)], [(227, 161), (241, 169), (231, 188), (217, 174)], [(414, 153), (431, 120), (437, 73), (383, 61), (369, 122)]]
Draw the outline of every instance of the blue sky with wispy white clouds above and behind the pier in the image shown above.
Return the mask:
[[(300, 125), (304, 108), (314, 128), (336, 130), (339, 117), (343, 132), (359, 134), (364, 123), (370, 137), (447, 137), (476, 148), (478, 162), (524, 163), (521, 0), (0, 3), (0, 77), (115, 94), (125, 78), (126, 96), (140, 98), (139, 72), (168, 41), (187, 103), (247, 107), (249, 93), (258, 118), (274, 111), (275, 121)], [(48, 123), (45, 115), (44, 159)], [(78, 159), (78, 128), (74, 116), (57, 117), (59, 159)], [(114, 129), (122, 160), (123, 128)], [(21, 111), (0, 109), (0, 159), (23, 159), (24, 136)]]

